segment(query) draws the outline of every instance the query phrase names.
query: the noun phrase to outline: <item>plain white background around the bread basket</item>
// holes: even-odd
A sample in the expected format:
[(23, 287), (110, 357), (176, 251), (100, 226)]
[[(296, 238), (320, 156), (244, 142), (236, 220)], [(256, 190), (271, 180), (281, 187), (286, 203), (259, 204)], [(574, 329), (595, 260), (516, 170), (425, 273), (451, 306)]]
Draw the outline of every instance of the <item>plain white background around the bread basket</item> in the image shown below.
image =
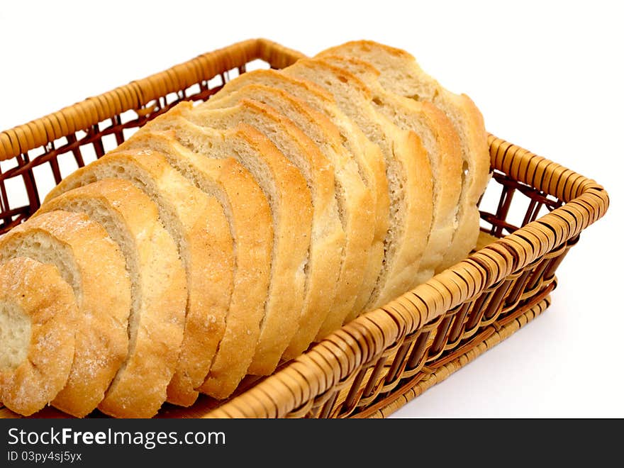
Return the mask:
[(551, 308), (395, 416), (624, 416), (624, 36), (618, 2), (4, 1), (0, 129), (230, 43), (308, 55), (367, 38), (474, 99), (491, 133), (611, 195), (559, 269)]

